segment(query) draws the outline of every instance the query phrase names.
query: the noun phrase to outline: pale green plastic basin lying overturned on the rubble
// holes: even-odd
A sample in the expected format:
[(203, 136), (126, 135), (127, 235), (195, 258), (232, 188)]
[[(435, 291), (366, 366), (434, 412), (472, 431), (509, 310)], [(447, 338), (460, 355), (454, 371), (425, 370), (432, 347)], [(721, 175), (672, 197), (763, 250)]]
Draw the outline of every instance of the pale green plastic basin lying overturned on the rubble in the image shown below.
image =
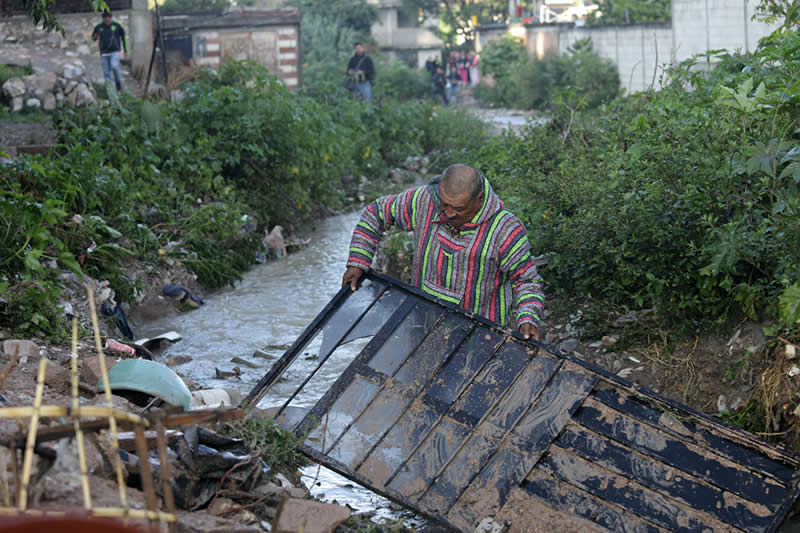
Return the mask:
[[(147, 359), (126, 359), (108, 371), (108, 382), (114, 394), (132, 403), (146, 406), (153, 398), (169, 405), (189, 409), (192, 393), (172, 369)], [(95, 390), (103, 390), (102, 380)]]

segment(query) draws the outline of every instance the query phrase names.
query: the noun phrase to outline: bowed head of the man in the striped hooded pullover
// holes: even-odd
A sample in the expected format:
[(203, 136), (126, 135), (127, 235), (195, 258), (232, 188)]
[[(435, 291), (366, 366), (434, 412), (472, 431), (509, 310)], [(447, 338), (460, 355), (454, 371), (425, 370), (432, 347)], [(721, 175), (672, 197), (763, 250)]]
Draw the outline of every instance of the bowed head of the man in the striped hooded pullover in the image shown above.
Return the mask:
[(483, 207), (483, 176), (469, 165), (451, 165), (439, 182), (442, 217), (459, 228), (471, 221)]

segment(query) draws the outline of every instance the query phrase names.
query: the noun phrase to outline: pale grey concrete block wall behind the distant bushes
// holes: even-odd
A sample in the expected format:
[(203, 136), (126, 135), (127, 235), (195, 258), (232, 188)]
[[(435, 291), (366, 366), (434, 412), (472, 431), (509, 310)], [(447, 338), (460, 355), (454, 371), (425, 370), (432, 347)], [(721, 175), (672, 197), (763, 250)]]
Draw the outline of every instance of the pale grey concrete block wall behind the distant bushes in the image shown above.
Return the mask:
[(666, 65), (708, 50), (752, 51), (777, 25), (752, 20), (757, 0), (672, 0), (672, 22), (601, 27), (573, 24), (498, 26), (481, 29), (479, 49), (506, 33), (523, 39), (528, 54), (563, 54), (579, 39), (617, 65), (629, 92), (658, 88)]

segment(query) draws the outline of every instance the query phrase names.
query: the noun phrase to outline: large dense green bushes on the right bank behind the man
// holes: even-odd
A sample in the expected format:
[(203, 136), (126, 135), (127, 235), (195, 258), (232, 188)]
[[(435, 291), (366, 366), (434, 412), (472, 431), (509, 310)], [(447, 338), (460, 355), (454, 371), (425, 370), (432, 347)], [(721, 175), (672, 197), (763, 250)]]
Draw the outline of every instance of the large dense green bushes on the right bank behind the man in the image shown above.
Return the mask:
[(713, 54), (666, 87), (484, 144), (484, 169), (528, 226), (551, 291), (673, 323), (768, 316), (796, 326), (800, 35)]

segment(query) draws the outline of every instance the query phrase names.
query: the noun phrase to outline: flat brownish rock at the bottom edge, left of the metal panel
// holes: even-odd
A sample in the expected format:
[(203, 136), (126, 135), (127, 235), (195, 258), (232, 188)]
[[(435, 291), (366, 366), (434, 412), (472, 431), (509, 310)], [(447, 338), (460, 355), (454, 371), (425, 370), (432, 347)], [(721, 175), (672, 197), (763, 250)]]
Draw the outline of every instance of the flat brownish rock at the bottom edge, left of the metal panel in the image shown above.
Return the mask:
[(332, 503), (289, 498), (281, 503), (272, 521), (275, 533), (332, 533), (350, 518), (347, 507)]

